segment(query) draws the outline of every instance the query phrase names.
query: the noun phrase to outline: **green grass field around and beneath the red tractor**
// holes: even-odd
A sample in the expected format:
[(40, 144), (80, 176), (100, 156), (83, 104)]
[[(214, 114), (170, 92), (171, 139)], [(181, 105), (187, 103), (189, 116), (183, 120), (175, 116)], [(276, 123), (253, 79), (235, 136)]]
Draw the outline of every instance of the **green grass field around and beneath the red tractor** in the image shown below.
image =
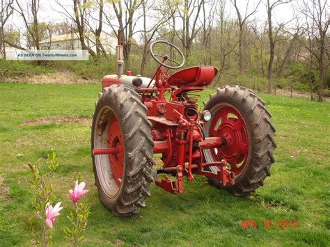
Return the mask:
[[(55, 246), (65, 245), (60, 229), (68, 223), (67, 191), (79, 173), (90, 189), (84, 246), (329, 246), (330, 104), (261, 95), (273, 115), (278, 148), (272, 176), (251, 196), (235, 198), (210, 186), (205, 177), (184, 182), (180, 196), (152, 184), (145, 209), (116, 218), (97, 197), (89, 121), (22, 125), (45, 117), (91, 118), (100, 88), (0, 84), (0, 246), (33, 244), (27, 228), (32, 212), (29, 171), (23, 165), (52, 148), (60, 161), (54, 189), (65, 207), (54, 223)], [(24, 156), (17, 159), (18, 153)], [(242, 220), (255, 220), (257, 228), (241, 229)], [(267, 220), (274, 222), (273, 229), (264, 229)], [(299, 228), (278, 229), (281, 220), (297, 220)]]

